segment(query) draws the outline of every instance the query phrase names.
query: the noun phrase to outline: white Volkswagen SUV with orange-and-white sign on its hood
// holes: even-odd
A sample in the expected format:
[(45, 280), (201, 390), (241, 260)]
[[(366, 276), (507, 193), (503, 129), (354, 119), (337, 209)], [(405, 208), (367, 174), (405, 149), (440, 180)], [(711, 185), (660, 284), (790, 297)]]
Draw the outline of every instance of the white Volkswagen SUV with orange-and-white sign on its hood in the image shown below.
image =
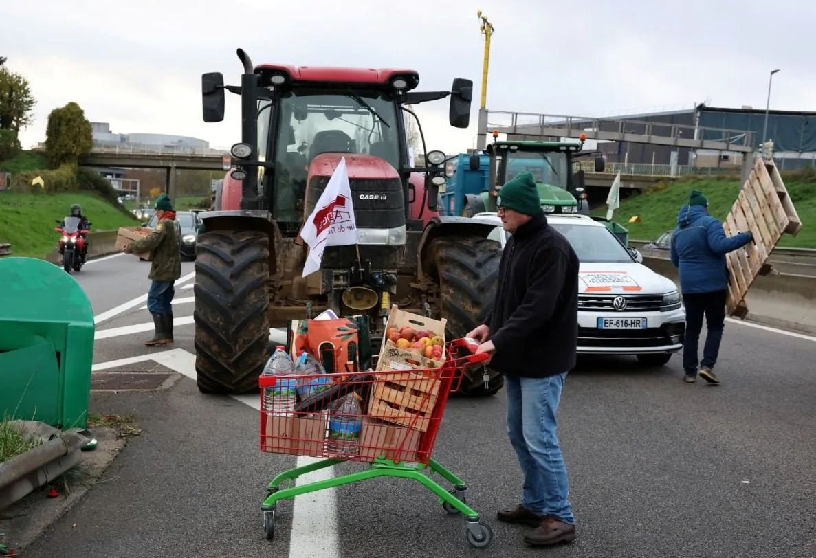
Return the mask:
[[(504, 248), (509, 238), (495, 213), (474, 219), (499, 226), (489, 238)], [(683, 348), (685, 308), (677, 287), (643, 263), (603, 224), (588, 215), (548, 215), (580, 260), (578, 352), (635, 355), (644, 365), (666, 364)]]

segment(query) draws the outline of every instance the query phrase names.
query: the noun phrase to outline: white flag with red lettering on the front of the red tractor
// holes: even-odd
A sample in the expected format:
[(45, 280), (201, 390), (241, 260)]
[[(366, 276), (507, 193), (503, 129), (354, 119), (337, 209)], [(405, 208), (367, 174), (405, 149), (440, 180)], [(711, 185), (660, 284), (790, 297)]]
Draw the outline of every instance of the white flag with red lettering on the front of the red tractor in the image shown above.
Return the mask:
[(345, 157), (340, 159), (312, 215), (306, 219), (300, 237), (309, 247), (303, 277), (320, 269), (326, 246), (357, 244), (357, 222), (354, 219), (352, 188), (348, 184)]

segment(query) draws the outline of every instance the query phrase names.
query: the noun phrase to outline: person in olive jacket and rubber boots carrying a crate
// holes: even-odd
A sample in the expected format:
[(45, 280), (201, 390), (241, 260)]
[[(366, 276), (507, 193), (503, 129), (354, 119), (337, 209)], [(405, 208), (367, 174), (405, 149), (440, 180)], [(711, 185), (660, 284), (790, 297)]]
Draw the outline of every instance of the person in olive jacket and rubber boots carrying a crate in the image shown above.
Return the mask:
[(157, 224), (149, 236), (131, 242), (125, 247), (127, 254), (153, 252), (148, 278), (148, 311), (153, 315), (155, 334), (153, 339), (144, 344), (166, 345), (173, 343), (173, 296), (175, 281), (181, 277), (180, 237), (175, 226), (175, 211), (166, 194), (156, 198), (153, 209), (156, 211)]

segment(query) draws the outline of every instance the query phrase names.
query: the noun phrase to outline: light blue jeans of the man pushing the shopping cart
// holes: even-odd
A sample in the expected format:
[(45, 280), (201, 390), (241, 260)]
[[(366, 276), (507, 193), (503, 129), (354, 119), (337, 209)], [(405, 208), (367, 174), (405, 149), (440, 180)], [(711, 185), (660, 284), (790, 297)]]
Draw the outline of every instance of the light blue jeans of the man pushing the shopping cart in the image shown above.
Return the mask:
[(539, 515), (575, 524), (556, 414), (566, 372), (546, 378), (505, 375), (508, 436), (524, 473), (521, 505)]

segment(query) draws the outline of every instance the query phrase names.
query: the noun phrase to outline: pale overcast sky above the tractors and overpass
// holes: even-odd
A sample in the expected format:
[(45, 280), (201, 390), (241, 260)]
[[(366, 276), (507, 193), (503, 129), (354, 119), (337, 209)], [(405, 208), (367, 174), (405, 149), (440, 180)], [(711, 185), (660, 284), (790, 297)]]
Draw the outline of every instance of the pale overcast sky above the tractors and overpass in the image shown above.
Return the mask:
[[(410, 8), (406, 8), (410, 7)], [(812, 0), (0, 0), (0, 55), (38, 104), (29, 147), (51, 109), (78, 102), (117, 133), (190, 135), (213, 147), (240, 139), (240, 106), (202, 122), (201, 74), (238, 84), (243, 48), (255, 64), (411, 67), (420, 90), (475, 86), (471, 126), (447, 124), (447, 101), (418, 110), (428, 148), (475, 145), (483, 38), (494, 24), (487, 108), (596, 116), (667, 106), (816, 110)]]

